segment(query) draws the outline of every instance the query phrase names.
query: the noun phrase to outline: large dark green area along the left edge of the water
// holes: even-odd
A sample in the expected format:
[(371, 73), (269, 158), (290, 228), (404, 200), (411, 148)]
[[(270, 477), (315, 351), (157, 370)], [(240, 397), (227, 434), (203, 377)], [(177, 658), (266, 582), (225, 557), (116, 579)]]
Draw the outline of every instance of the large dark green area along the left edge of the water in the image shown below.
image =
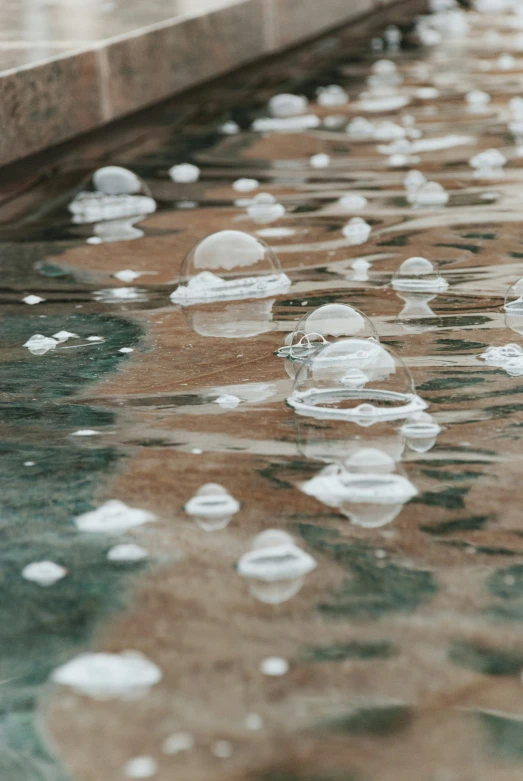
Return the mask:
[[(105, 341), (45, 356), (20, 348), (33, 333), (62, 329)], [(98, 621), (123, 605), (122, 578), (136, 571), (108, 566), (110, 542), (79, 535), (72, 522), (93, 508), (122, 454), (112, 447), (83, 447), (67, 435), (113, 424), (111, 410), (71, 403), (71, 397), (115, 370), (126, 360), (118, 349), (136, 345), (140, 336), (134, 323), (110, 316), (4, 316), (0, 321), (0, 338), (12, 349), (12, 357), (0, 363), (4, 396), (10, 400), (2, 406), (0, 444), (2, 781), (67, 778), (35, 727), (41, 686), (54, 667), (85, 647)], [(25, 466), (26, 461), (34, 466)], [(68, 570), (52, 592), (20, 574), (30, 562), (44, 559)]]

